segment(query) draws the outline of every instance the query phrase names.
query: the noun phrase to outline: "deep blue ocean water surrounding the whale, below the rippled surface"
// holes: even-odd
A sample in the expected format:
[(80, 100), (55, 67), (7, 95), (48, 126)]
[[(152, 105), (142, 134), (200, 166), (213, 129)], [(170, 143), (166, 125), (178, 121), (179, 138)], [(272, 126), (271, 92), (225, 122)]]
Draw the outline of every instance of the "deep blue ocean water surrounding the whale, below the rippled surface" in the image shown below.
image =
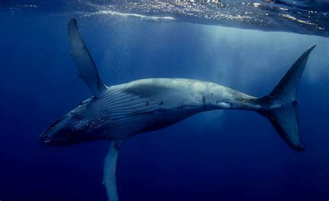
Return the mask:
[(328, 200), (328, 37), (74, 12), (0, 12), (0, 200), (107, 200), (107, 141), (50, 147), (39, 135), (90, 97), (69, 55), (81, 33), (107, 85), (193, 78), (268, 94), (317, 44), (298, 88), (304, 152), (255, 112), (212, 111), (122, 143), (121, 200)]

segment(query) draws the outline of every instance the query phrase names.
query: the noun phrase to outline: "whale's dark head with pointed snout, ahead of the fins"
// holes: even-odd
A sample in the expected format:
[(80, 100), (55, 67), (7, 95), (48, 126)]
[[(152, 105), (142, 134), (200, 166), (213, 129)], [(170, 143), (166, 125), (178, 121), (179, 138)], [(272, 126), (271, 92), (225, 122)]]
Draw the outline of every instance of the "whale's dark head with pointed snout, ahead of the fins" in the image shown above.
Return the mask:
[(62, 146), (94, 139), (93, 125), (95, 123), (87, 118), (89, 112), (87, 104), (91, 99), (82, 101), (73, 110), (51, 124), (40, 135), (41, 143)]

